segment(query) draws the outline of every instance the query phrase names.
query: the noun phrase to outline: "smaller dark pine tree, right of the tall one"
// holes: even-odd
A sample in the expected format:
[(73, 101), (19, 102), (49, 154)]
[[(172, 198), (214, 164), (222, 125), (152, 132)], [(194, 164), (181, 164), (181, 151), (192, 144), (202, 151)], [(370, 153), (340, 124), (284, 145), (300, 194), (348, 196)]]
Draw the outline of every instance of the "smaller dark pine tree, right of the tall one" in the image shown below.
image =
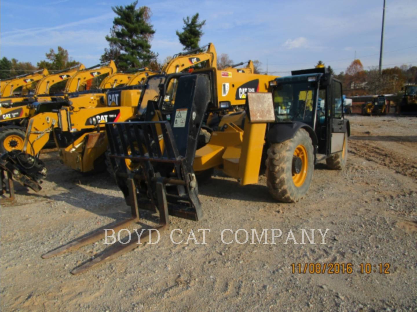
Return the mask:
[(181, 45), (184, 46), (185, 51), (193, 50), (199, 47), (201, 36), (204, 34), (201, 28), (206, 24), (206, 20), (202, 22), (198, 21), (198, 13), (194, 14), (191, 18), (183, 18), (184, 26), (183, 32), (176, 31), (178, 39)]

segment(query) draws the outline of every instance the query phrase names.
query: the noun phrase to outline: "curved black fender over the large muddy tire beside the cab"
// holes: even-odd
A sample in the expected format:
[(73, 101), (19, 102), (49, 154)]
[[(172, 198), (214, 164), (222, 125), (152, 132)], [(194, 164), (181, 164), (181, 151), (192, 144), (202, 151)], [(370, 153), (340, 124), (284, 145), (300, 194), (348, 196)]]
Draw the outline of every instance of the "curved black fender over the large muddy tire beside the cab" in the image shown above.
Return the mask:
[(316, 133), (311, 126), (301, 121), (293, 121), (287, 124), (274, 124), (269, 129), (268, 134), (266, 134), (266, 138), (269, 143), (281, 143), (292, 139), (300, 128), (305, 129), (309, 133), (313, 146), (316, 146), (319, 142)]

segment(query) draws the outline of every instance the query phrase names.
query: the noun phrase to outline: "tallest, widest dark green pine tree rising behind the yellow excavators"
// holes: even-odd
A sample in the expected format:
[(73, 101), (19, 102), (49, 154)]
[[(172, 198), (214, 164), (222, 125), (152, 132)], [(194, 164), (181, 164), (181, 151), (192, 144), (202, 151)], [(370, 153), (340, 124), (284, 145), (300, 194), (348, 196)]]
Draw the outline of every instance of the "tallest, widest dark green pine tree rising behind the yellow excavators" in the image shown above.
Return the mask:
[(135, 1), (130, 5), (112, 7), (117, 16), (111, 34), (106, 36), (110, 47), (101, 60), (114, 58), (119, 70), (146, 67), (157, 57), (149, 43), (155, 33), (149, 22), (151, 9), (146, 6), (136, 8), (137, 4)]

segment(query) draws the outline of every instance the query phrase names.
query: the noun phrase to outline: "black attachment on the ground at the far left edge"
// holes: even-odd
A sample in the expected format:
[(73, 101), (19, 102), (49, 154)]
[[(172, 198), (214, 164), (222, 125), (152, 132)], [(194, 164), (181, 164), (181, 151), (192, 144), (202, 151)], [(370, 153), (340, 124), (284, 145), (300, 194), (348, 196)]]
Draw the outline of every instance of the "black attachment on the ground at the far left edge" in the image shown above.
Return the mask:
[[(23, 186), (27, 186), (35, 192), (39, 192), (42, 188), (40, 183), (41, 179), (46, 177), (46, 168), (43, 161), (39, 158), (26, 154), (22, 151), (10, 151), (1, 155), (1, 170), (7, 172), (8, 178), (18, 181)], [(4, 175), (4, 172), (2, 173)], [(2, 176), (3, 178), (3, 176)], [(13, 182), (9, 181), (10, 192), (13, 189)], [(3, 190), (2, 182), (2, 193)]]

